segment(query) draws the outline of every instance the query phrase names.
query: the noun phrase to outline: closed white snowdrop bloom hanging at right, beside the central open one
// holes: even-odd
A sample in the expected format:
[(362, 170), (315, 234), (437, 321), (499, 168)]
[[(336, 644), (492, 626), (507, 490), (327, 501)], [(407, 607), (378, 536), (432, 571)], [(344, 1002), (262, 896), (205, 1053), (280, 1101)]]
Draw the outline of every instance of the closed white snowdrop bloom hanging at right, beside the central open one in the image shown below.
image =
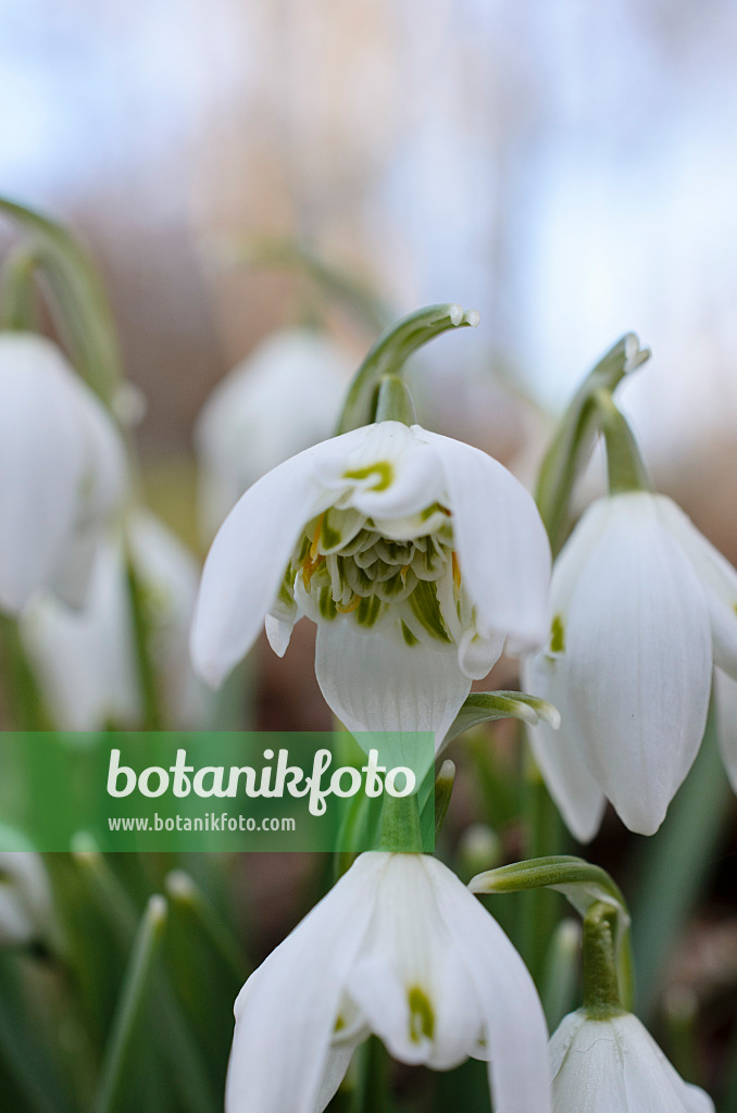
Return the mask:
[(600, 499), (553, 570), (546, 648), (523, 683), (561, 728), (532, 727), (566, 823), (587, 841), (611, 800), (651, 835), (698, 751), (713, 664), (737, 676), (737, 573), (665, 495)]

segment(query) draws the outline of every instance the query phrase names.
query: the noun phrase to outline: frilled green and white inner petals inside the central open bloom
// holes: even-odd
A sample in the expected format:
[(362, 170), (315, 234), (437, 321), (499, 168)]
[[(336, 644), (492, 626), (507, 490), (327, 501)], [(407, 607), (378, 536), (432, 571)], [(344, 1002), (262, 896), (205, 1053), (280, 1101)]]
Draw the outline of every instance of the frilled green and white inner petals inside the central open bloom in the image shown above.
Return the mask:
[(315, 621), (351, 614), (365, 627), (399, 607), (407, 641), (415, 640), (417, 622), (434, 638), (450, 641), (436, 588), (441, 580), (452, 582), (458, 609), (460, 571), (451, 513), (444, 506), (435, 503), (401, 521), (332, 506), (305, 526), (281, 598), (285, 605), (296, 599)]

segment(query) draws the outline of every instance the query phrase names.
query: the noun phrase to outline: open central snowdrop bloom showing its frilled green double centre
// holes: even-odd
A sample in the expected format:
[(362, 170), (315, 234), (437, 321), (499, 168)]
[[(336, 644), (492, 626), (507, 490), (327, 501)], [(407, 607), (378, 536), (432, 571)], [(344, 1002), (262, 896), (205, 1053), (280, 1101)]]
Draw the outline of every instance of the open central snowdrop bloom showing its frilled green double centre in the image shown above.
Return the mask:
[(542, 643), (550, 550), (498, 461), (420, 425), (380, 422), (275, 467), (239, 500), (205, 563), (195, 667), (220, 683), (266, 615), (279, 656), (318, 626), (323, 695), (351, 730), (440, 742), (501, 654)]

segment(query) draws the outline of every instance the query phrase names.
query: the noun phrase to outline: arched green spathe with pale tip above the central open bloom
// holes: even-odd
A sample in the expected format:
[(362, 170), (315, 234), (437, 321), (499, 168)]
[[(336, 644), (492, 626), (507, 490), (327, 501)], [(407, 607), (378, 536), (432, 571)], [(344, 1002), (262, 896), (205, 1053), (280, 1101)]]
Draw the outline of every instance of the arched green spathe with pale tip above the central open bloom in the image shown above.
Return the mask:
[(449, 328), (479, 324), (479, 314), (460, 305), (429, 305), (403, 317), (381, 336), (356, 372), (343, 406), (337, 433), (375, 421), (379, 386), (385, 375), (400, 375), (410, 356)]

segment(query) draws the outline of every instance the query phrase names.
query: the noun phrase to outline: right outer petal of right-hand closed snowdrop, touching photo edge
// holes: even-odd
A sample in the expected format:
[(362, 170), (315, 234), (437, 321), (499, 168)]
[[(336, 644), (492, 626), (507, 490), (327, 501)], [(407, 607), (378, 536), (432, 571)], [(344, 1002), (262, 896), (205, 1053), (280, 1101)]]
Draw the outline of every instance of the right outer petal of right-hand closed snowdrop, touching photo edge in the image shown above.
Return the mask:
[(737, 680), (737, 572), (671, 499), (661, 495), (658, 511), (682, 545), (706, 592), (715, 664)]

